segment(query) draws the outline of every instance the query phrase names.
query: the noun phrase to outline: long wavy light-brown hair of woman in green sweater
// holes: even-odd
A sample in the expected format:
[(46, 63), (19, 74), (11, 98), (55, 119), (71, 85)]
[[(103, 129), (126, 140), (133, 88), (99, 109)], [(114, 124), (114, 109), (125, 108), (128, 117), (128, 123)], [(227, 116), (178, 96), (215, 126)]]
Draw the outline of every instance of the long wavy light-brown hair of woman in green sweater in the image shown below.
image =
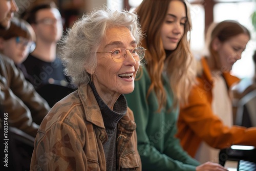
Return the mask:
[(161, 27), (164, 23), (169, 3), (172, 0), (147, 0), (143, 1), (136, 9), (139, 22), (146, 37), (142, 40), (142, 46), (147, 49), (145, 54), (146, 69), (152, 83), (147, 96), (155, 91), (159, 110), (166, 103), (166, 92), (162, 83), (162, 73), (166, 72), (169, 77), (170, 87), (174, 94), (174, 107), (178, 102), (185, 102), (191, 85), (195, 81), (195, 70), (192, 69), (194, 58), (189, 50), (188, 32), (191, 30), (191, 18), (188, 3), (181, 0), (186, 8), (187, 23), (184, 35), (177, 48), (166, 56), (160, 36)]

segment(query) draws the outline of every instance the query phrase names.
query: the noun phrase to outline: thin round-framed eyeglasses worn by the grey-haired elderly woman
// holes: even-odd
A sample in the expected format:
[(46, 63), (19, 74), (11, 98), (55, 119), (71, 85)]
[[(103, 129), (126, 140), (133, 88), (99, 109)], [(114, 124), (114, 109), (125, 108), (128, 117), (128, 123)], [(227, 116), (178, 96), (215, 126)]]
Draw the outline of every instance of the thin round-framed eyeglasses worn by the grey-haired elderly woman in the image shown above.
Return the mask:
[(133, 49), (115, 48), (109, 52), (97, 52), (97, 53), (111, 53), (111, 57), (115, 62), (122, 62), (127, 56), (127, 50), (132, 54), (135, 61), (141, 61), (144, 56), (146, 49), (143, 47), (136, 47)]

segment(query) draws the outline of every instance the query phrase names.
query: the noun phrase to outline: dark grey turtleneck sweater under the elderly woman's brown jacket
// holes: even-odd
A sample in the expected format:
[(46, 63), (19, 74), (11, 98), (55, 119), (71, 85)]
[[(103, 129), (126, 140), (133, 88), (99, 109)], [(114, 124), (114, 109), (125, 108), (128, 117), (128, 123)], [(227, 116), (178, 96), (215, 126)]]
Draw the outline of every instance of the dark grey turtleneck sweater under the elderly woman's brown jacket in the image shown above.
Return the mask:
[(116, 170), (117, 122), (127, 112), (127, 102), (124, 95), (121, 94), (117, 99), (116, 103), (114, 104), (113, 110), (111, 110), (97, 93), (97, 90), (93, 82), (90, 82), (89, 84), (99, 104), (106, 133), (108, 134), (108, 141), (106, 141), (106, 143), (103, 144), (106, 159), (106, 170), (113, 171)]

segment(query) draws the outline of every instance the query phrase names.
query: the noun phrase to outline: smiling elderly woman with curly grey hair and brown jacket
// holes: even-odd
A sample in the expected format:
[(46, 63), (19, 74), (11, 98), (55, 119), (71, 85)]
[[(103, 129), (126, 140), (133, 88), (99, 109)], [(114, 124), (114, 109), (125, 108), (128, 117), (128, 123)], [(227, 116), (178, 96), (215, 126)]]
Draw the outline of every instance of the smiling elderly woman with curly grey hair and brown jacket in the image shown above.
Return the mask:
[(62, 60), (78, 90), (42, 121), (30, 170), (141, 170), (136, 124), (123, 94), (144, 58), (137, 15), (101, 9), (63, 39)]

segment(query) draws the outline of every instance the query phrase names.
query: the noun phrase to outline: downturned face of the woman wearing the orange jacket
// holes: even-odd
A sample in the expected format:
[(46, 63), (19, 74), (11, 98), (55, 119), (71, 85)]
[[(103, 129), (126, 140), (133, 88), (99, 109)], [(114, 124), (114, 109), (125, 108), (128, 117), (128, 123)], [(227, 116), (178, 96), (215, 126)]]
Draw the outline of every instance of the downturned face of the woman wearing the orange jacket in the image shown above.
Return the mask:
[(218, 39), (214, 42), (214, 50), (220, 57), (222, 72), (229, 72), (234, 62), (241, 59), (241, 54), (248, 41), (249, 36), (242, 33), (224, 42), (220, 42)]

